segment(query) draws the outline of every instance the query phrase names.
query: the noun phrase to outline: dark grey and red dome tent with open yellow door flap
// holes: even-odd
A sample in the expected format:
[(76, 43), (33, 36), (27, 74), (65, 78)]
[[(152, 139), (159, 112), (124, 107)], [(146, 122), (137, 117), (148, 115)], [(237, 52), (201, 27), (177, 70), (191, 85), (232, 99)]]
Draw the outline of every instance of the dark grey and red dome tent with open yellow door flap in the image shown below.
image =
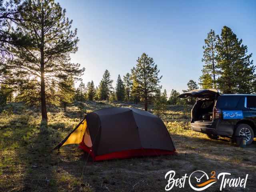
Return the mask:
[(87, 114), (54, 149), (67, 144), (79, 144), (94, 161), (175, 152), (162, 120), (135, 108), (104, 108)]

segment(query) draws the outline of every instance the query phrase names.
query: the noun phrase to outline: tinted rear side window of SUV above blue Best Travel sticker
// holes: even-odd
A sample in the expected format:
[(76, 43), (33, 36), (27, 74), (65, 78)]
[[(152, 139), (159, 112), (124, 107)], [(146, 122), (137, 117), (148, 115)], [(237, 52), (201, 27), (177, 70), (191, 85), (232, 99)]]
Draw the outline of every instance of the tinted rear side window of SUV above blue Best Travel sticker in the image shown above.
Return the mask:
[(241, 96), (220, 96), (217, 100), (217, 108), (237, 108)]

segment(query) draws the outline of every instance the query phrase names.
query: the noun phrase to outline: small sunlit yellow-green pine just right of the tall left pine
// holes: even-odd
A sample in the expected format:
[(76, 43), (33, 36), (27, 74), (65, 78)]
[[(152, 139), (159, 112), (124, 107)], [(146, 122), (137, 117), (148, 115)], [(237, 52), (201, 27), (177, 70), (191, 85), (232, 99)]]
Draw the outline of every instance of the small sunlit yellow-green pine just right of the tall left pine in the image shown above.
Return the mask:
[(64, 106), (64, 111), (66, 111), (66, 106), (74, 100), (74, 78), (72, 76), (68, 77), (58, 87), (58, 98), (60, 99), (60, 104)]

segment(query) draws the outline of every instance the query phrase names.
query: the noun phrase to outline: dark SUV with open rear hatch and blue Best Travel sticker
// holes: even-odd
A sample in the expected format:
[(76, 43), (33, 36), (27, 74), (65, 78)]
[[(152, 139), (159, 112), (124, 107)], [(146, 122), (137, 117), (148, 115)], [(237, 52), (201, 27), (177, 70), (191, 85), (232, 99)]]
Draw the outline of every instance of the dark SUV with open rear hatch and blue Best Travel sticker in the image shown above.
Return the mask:
[(191, 128), (211, 139), (246, 136), (251, 144), (256, 135), (256, 95), (222, 94), (215, 89), (198, 89), (180, 94), (195, 97), (191, 110)]

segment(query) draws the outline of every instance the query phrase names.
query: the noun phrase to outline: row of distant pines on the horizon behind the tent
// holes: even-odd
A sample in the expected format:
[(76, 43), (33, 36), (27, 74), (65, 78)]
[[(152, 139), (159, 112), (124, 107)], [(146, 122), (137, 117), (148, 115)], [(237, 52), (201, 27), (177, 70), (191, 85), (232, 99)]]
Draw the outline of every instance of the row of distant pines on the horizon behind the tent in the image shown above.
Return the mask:
[[(153, 58), (143, 53), (138, 57), (137, 64), (131, 69), (131, 73), (126, 73), (123, 79), (118, 74), (115, 88), (112, 86), (113, 80), (110, 72), (105, 70), (99, 86), (84, 90), (84, 98), (88, 98), (88, 100), (144, 102), (144, 109), (148, 110), (148, 103), (157, 98), (156, 94), (162, 88), (159, 84), (162, 76), (159, 77), (158, 73), (159, 70)], [(88, 82), (88, 84), (91, 83)], [(81, 82), (81, 84), (83, 83)], [(86, 97), (88, 92), (93, 93), (90, 98)]]

